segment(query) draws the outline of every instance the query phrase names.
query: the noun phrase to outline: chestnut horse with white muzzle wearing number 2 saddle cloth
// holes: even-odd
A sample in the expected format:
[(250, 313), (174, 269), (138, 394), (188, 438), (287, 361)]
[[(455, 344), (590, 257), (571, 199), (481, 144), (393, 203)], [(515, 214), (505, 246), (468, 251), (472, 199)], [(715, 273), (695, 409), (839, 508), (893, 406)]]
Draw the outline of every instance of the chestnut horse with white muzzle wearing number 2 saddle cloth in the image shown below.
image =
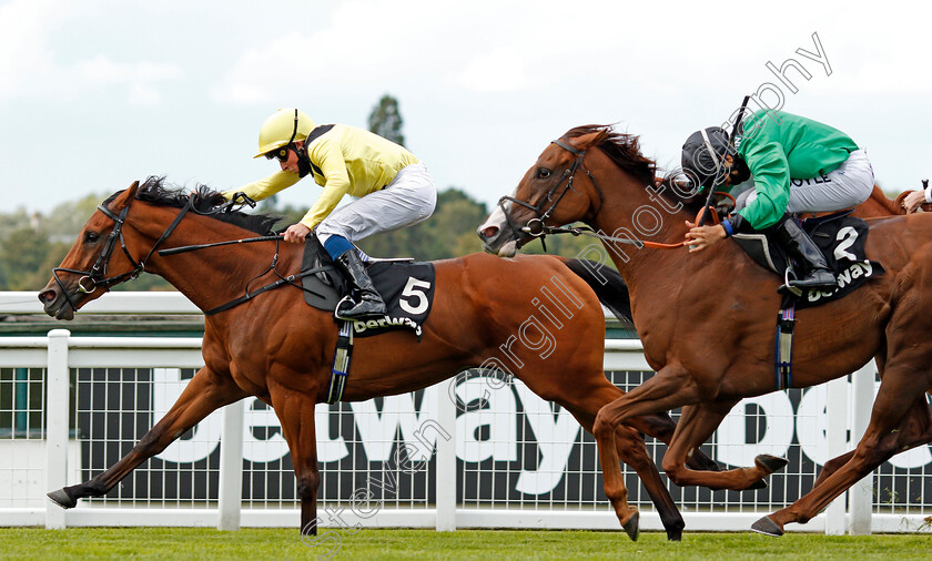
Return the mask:
[[(624, 496), (611, 441), (638, 415), (683, 407), (662, 467), (678, 484), (746, 489), (768, 466), (722, 472), (687, 469), (686, 459), (741, 398), (773, 391), (778, 279), (740, 248), (720, 243), (700, 254), (658, 251), (641, 241), (680, 243), (701, 203), (676, 186), (657, 187), (637, 137), (581, 126), (551, 143), (513, 197), (479, 230), (488, 252), (510, 254), (546, 226), (584, 221), (605, 244), (630, 290), (635, 326), (657, 375), (602, 408), (595, 434), (606, 494)], [(932, 218), (870, 221), (868, 256), (887, 273), (844, 298), (798, 312), (793, 387), (844, 376), (878, 358), (882, 384), (870, 426), (852, 455), (832, 465), (812, 491), (764, 517), (756, 531), (779, 536), (807, 522), (894, 453), (932, 440), (925, 389), (932, 386)], [(621, 241), (635, 244), (621, 245)], [(602, 453), (604, 452), (604, 453)], [(824, 470), (823, 470), (824, 471)]]

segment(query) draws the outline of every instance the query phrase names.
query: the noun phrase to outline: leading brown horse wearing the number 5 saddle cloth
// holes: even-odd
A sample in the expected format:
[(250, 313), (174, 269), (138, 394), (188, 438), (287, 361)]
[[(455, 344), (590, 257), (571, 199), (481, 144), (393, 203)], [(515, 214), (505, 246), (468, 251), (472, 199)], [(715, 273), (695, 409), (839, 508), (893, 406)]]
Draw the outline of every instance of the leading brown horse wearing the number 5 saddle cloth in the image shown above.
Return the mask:
[[(188, 212), (195, 201), (196, 208)], [(189, 197), (165, 190), (161, 180), (153, 178), (142, 187), (134, 183), (114, 194), (91, 216), (55, 276), (39, 294), (45, 312), (71, 319), (78, 308), (102, 296), (111, 285), (130, 279), (143, 265), (145, 272), (161, 275), (204, 310), (249, 290), (257, 294), (256, 288), (301, 271), (304, 248), (292, 244), (278, 247), (278, 242), (274, 247), (273, 242), (263, 242), (159, 254), (156, 249), (271, 233), (273, 221), (269, 217), (215, 213), (221, 203), (223, 197), (205, 187)], [(599, 269), (590, 267), (586, 262), (551, 256), (509, 262), (476, 254), (437, 262), (433, 312), (423, 325), (421, 341), (404, 332), (357, 339), (344, 399), (413, 391), (496, 358), (498, 364), (510, 365), (510, 371), (538, 396), (560, 404), (591, 431), (599, 409), (624, 392), (602, 371), (605, 316), (587, 284), (600, 287), (596, 279)], [(554, 317), (560, 325), (543, 319), (546, 314), (535, 298), (554, 283), (576, 298), (561, 315), (556, 308), (548, 312), (557, 314)], [(71, 508), (82, 497), (103, 496), (211, 411), (255, 396), (271, 405), (281, 420), (297, 479), (302, 530), (314, 532), (320, 483), (314, 405), (326, 399), (337, 332), (328, 313), (306, 306), (303, 299), (301, 289), (285, 286), (209, 315), (203, 340), (205, 366), (165, 417), (113, 467), (50, 497)], [(535, 325), (544, 326), (553, 337), (547, 348)], [(523, 366), (515, 366), (518, 364)], [(666, 414), (631, 425), (667, 442), (676, 428)], [(668, 537), (679, 539), (682, 518), (642, 438), (629, 429), (620, 430), (616, 441), (619, 456), (647, 487)], [(697, 458), (697, 467), (717, 468), (706, 457)], [(637, 511), (624, 500), (621, 503), (617, 508), (619, 522), (636, 539)]]

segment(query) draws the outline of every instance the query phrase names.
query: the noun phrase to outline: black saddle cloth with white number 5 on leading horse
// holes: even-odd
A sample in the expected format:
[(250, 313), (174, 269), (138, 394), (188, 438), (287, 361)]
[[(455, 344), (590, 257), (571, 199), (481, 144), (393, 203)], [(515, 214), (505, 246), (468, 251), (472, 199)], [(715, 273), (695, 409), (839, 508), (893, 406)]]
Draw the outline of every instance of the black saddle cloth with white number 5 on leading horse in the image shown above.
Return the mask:
[[(350, 284), (313, 234), (304, 243), (301, 269), (316, 271), (301, 279), (304, 300), (315, 308), (332, 313), (350, 292)], [(422, 325), (434, 304), (434, 265), (409, 259), (369, 259), (366, 272), (385, 300), (388, 313), (377, 319), (353, 320), (354, 336), (369, 337), (391, 329), (413, 329), (419, 337)]]

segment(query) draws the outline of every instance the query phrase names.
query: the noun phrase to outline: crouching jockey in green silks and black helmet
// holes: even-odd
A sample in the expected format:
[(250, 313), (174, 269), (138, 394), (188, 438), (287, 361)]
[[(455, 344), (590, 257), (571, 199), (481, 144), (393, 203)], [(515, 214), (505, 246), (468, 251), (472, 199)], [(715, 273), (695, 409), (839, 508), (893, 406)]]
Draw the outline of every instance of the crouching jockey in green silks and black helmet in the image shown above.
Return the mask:
[(774, 234), (800, 266), (799, 288), (837, 286), (822, 253), (790, 214), (832, 212), (870, 197), (874, 175), (864, 150), (829, 125), (782, 111), (748, 116), (729, 143), (728, 133), (712, 126), (692, 133), (682, 146), (682, 169), (700, 190), (753, 178), (743, 208), (713, 226), (690, 222), (686, 245), (698, 252), (736, 232)]

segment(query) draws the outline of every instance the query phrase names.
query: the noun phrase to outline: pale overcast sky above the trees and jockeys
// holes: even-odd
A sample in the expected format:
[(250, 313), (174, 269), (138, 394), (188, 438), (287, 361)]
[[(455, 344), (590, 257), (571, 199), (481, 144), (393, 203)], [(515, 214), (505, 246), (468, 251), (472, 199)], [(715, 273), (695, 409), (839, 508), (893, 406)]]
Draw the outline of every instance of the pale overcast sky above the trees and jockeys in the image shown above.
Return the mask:
[[(489, 204), (573, 126), (617, 123), (670, 167), (689, 133), (722, 123), (748, 93), (770, 105), (782, 96), (784, 110), (845, 131), (867, 147), (889, 191), (932, 175), (924, 9), (877, 1), (259, 4), (0, 0), (4, 211), (50, 211), (151, 174), (234, 187), (276, 169), (251, 156), (277, 108), (365, 128), (385, 93), (398, 99), (407, 146), (437, 186)], [(798, 65), (784, 65), (789, 59)], [(768, 62), (783, 67), (789, 83)], [(283, 198), (311, 206), (318, 193), (305, 180)]]

